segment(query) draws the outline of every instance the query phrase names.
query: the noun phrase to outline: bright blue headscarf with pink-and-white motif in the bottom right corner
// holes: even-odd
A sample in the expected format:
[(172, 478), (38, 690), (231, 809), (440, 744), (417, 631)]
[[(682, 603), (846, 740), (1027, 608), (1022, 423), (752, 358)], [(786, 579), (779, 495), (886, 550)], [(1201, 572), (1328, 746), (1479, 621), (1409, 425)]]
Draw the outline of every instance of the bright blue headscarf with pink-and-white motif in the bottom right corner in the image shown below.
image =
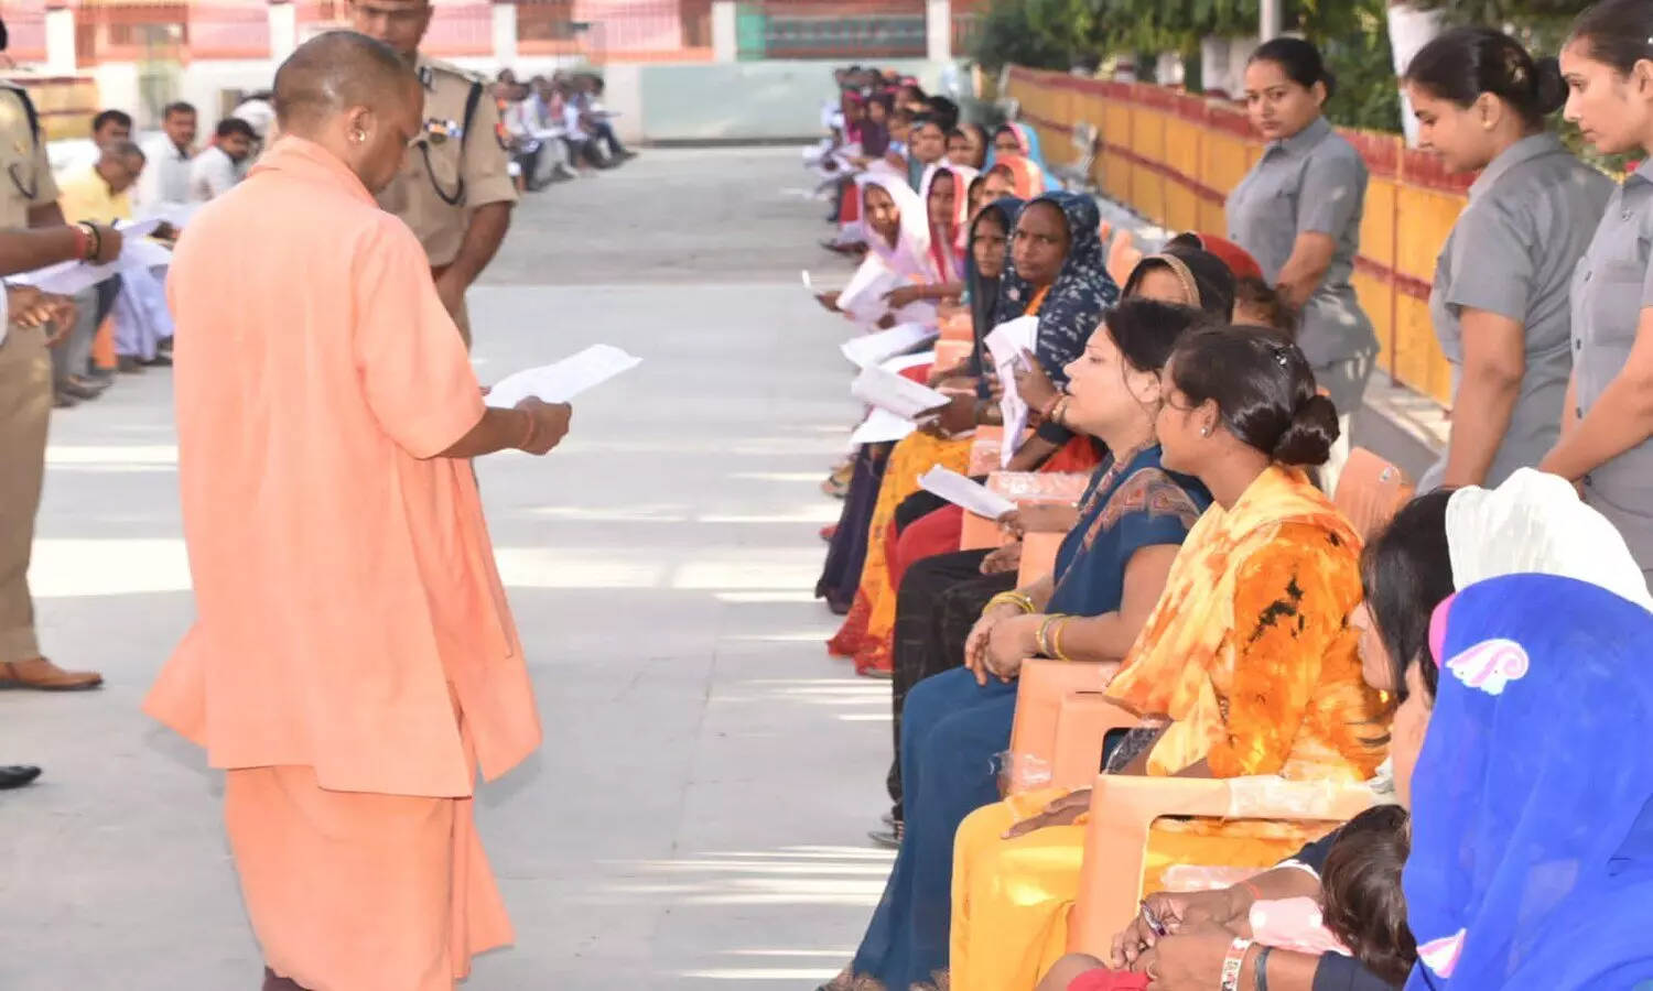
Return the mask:
[(1412, 781), (1407, 991), (1653, 981), (1653, 613), (1508, 575), (1436, 609)]

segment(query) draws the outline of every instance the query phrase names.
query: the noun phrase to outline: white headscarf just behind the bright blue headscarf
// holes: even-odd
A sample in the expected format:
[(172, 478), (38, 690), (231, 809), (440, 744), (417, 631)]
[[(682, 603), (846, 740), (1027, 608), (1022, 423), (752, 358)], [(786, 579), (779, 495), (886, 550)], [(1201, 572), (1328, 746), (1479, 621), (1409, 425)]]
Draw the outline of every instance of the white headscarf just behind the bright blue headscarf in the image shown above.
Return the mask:
[(1653, 595), (1625, 538), (1570, 482), (1552, 474), (1522, 467), (1496, 489), (1453, 492), (1446, 545), (1458, 588), (1499, 575), (1560, 575), (1653, 611)]

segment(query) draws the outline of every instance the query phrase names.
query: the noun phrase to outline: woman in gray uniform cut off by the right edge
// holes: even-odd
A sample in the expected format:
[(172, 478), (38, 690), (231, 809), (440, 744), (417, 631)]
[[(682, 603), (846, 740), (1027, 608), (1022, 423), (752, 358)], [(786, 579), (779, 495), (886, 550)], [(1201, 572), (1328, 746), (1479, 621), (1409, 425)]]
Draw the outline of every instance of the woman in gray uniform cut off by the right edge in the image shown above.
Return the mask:
[[(1607, 0), (1560, 53), (1567, 119), (1605, 155), (1653, 149), (1653, 3)], [(1572, 385), (1539, 466), (1580, 486), (1653, 573), (1653, 162), (1607, 202), (1572, 279)], [(1488, 273), (1498, 277), (1498, 273)]]

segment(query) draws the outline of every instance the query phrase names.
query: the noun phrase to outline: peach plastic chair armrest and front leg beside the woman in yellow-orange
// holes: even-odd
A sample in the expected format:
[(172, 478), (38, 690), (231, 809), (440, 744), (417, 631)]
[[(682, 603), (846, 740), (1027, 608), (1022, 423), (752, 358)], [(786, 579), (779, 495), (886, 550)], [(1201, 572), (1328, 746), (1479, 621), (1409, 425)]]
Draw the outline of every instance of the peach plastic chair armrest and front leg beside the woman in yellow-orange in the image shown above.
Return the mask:
[(1068, 950), (1106, 958), (1114, 933), (1136, 917), (1154, 819), (1347, 823), (1370, 808), (1372, 799), (1369, 785), (1341, 781), (1098, 775)]

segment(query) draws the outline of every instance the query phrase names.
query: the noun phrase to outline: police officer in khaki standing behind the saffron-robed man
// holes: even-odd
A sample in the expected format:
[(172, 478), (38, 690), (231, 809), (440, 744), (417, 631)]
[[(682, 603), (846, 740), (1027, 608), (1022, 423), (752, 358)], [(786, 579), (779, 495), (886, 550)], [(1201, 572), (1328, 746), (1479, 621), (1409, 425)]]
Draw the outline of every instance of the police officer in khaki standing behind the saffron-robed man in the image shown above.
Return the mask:
[(350, 0), (352, 26), (402, 53), (425, 86), (420, 135), (379, 205), (425, 244), (436, 292), (469, 347), (464, 291), (499, 251), (517, 193), (489, 88), (418, 53), (430, 15), (430, 0)]

